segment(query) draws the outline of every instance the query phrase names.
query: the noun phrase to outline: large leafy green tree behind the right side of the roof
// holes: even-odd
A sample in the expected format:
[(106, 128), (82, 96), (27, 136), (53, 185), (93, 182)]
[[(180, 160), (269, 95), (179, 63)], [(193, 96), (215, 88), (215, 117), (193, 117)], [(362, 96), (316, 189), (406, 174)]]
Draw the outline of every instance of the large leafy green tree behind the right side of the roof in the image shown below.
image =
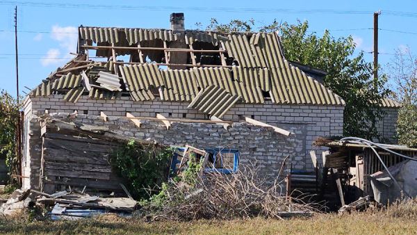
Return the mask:
[[(219, 24), (212, 19), (207, 26), (211, 31), (252, 31), (254, 21), (232, 20)], [(379, 107), (382, 98), (389, 94), (385, 89), (386, 76), (373, 79), (373, 66), (363, 58), (363, 51), (354, 56), (353, 38), (334, 38), (329, 31), (322, 36), (309, 33), (308, 22), (272, 24), (261, 26), (259, 31), (278, 31), (285, 58), (297, 63), (325, 70), (324, 86), (341, 96), (345, 102), (344, 136), (361, 138), (379, 137), (376, 122), (383, 114)]]

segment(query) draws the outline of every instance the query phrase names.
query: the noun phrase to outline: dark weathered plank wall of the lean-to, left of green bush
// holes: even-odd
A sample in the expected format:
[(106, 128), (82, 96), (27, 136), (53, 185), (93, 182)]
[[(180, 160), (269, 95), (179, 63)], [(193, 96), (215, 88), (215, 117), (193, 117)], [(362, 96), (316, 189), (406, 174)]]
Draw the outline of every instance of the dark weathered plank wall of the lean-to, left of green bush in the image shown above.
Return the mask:
[(45, 133), (42, 147), (40, 188), (45, 193), (69, 189), (94, 193), (120, 193), (122, 179), (109, 163), (119, 143), (97, 138)]

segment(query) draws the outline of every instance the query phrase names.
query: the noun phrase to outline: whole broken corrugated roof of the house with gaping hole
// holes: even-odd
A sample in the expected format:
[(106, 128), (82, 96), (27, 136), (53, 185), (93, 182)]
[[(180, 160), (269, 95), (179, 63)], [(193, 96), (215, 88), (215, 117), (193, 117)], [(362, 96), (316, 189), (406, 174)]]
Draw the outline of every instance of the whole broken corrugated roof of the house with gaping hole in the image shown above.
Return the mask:
[(189, 102), (189, 108), (218, 117), (236, 103), (263, 104), (265, 99), (345, 105), (288, 63), (276, 33), (80, 26), (78, 55), (30, 95), (52, 94), (63, 94), (68, 102), (83, 94), (92, 99), (130, 95), (137, 102)]

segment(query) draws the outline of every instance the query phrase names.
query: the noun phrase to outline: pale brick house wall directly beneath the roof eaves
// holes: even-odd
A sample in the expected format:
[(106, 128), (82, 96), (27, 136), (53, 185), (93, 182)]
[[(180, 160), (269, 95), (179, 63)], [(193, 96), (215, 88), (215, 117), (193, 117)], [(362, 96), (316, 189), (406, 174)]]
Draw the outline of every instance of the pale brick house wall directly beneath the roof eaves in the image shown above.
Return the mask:
[[(96, 100), (83, 96), (74, 104), (64, 102), (63, 95), (31, 97), (28, 102), (32, 103), (31, 110), (38, 113), (48, 109), (49, 113), (72, 113), (77, 110), (88, 115), (99, 115), (100, 111), (104, 111), (108, 116), (124, 116), (130, 112), (138, 117), (155, 117), (156, 113), (161, 113), (173, 118), (207, 118), (204, 113), (188, 109), (186, 102), (133, 102), (130, 97)], [(238, 121), (240, 115), (245, 115), (293, 131), (296, 135), (293, 166), (300, 170), (312, 170), (309, 151), (317, 149), (317, 155), (321, 156), (321, 149), (312, 146), (313, 140), (318, 136), (342, 136), (343, 109), (343, 106), (277, 105), (267, 101), (265, 104), (236, 104), (222, 119)]]

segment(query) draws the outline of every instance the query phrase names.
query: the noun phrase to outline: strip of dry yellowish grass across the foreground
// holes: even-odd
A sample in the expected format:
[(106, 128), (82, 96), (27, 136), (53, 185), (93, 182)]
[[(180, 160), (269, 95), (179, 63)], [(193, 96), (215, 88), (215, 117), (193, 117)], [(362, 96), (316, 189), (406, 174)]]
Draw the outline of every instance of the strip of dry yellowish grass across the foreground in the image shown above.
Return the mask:
[(1, 234), (416, 234), (417, 202), (343, 216), (277, 220), (195, 220), (192, 222), (125, 219), (115, 215), (79, 221), (28, 222), (24, 216), (0, 219)]

